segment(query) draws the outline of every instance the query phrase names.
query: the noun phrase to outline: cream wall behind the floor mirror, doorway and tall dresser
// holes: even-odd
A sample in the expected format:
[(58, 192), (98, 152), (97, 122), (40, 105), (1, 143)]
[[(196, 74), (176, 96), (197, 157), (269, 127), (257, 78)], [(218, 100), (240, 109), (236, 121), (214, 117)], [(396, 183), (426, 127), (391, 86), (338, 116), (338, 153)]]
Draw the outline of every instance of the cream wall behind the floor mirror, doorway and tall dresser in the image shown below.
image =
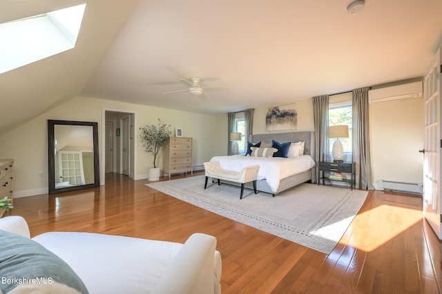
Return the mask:
[[(98, 123), (100, 182), (104, 179), (104, 154), (102, 152), (102, 129), (104, 110), (135, 112), (134, 133), (136, 141), (135, 179), (146, 178), (148, 167), (153, 167), (151, 154), (146, 154), (139, 140), (138, 129), (157, 123), (160, 118), (175, 127), (182, 127), (184, 136), (193, 138), (193, 165), (202, 165), (215, 154), (216, 123), (214, 115), (182, 112), (179, 110), (149, 107), (131, 103), (120, 103), (102, 99), (77, 97), (37, 116), (28, 123), (0, 136), (1, 158), (15, 159), (15, 197), (37, 195), (48, 192), (48, 131), (47, 120), (82, 120)], [(162, 157), (158, 159), (162, 167)], [(39, 178), (39, 172), (44, 176)]]

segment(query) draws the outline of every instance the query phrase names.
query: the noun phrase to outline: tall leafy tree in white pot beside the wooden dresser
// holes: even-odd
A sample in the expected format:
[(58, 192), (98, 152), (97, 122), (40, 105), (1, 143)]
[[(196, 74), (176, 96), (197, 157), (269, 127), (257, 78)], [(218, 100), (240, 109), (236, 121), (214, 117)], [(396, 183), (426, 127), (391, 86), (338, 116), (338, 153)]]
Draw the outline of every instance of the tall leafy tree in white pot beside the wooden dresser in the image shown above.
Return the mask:
[(157, 155), (161, 147), (171, 138), (170, 127), (171, 125), (163, 123), (160, 118), (158, 118), (156, 125), (140, 127), (140, 137), (144, 151), (153, 154), (153, 167), (148, 169), (148, 180), (160, 180), (160, 168), (156, 164)]

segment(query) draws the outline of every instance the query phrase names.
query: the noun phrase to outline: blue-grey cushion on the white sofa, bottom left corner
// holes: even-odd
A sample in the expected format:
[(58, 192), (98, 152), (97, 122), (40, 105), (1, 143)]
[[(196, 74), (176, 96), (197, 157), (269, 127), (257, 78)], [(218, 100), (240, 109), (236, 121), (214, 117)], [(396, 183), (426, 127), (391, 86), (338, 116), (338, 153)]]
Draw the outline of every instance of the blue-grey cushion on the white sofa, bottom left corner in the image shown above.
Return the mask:
[(73, 269), (41, 244), (0, 230), (0, 248), (3, 293), (88, 293)]

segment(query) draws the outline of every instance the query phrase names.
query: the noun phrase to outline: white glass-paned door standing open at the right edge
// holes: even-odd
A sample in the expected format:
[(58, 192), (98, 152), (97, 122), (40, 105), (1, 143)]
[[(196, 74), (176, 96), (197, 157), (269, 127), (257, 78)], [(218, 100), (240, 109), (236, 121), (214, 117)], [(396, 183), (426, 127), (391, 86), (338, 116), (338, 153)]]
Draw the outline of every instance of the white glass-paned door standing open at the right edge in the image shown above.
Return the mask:
[[(439, 46), (440, 47), (440, 46)], [(441, 48), (423, 79), (425, 135), (423, 143), (423, 215), (442, 240), (441, 225)]]

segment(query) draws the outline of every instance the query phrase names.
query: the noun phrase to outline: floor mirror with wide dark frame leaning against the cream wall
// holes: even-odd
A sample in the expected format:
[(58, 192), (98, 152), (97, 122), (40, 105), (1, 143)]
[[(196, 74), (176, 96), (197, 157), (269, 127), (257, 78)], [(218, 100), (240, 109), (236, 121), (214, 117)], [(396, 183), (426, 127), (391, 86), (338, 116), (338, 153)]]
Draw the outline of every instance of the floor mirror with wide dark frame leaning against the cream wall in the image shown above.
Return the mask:
[(49, 193), (99, 187), (98, 123), (48, 120)]

